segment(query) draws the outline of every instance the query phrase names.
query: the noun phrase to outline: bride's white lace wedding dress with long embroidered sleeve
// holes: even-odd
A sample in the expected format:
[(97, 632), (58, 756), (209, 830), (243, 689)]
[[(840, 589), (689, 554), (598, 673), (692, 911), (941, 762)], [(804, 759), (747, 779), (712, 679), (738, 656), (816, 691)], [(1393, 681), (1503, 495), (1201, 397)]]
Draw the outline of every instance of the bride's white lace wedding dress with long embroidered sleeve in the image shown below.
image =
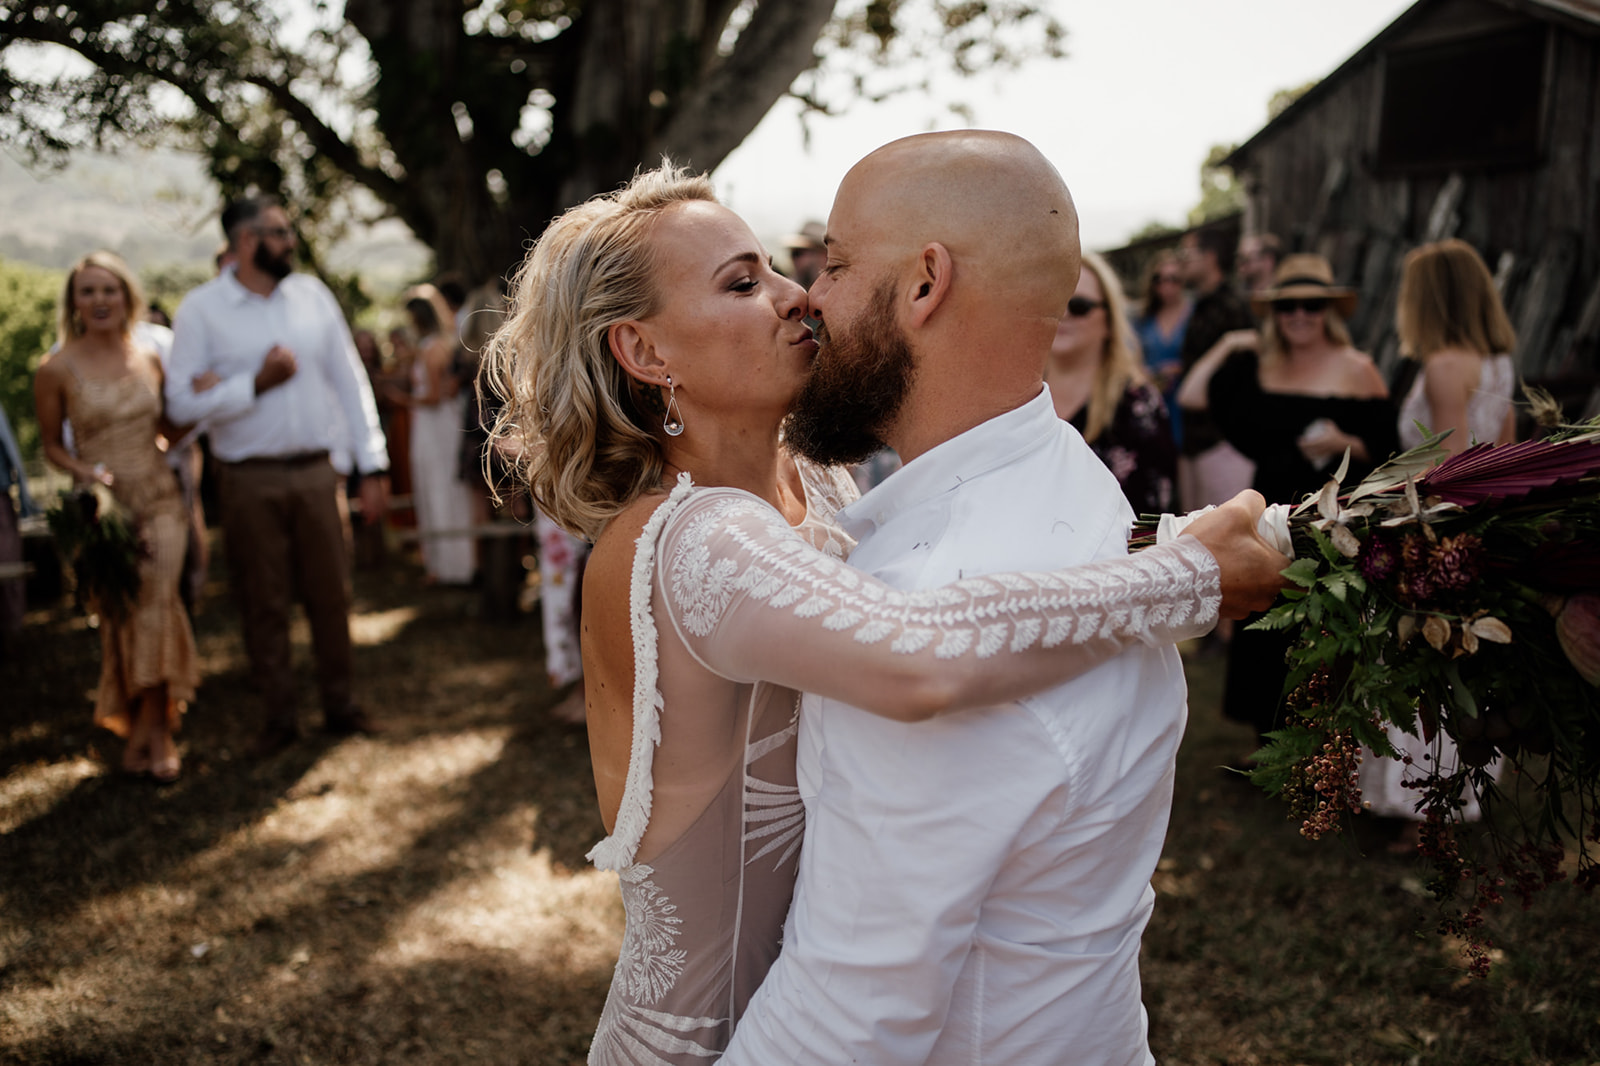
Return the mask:
[(589, 853), (618, 871), (627, 922), (589, 1055), (598, 1066), (714, 1061), (778, 957), (805, 821), (798, 690), (883, 714), (930, 691), (978, 707), (1216, 623), (1216, 562), (1194, 538), (894, 591), (842, 563), (851, 543), (834, 514), (854, 485), (800, 471), (798, 527), (749, 493), (682, 477), (638, 536), (634, 746), (616, 826)]

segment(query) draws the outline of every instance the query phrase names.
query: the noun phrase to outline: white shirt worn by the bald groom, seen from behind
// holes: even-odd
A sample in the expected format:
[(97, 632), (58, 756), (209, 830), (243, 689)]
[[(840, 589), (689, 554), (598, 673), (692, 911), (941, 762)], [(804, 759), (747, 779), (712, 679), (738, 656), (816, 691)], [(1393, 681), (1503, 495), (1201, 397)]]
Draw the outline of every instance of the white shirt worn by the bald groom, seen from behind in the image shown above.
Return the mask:
[[(840, 512), (899, 589), (1126, 552), (1117, 479), (1050, 392)], [(1173, 647), (902, 725), (805, 696), (805, 847), (782, 954), (722, 1060), (1154, 1063), (1139, 938), (1187, 712)]]

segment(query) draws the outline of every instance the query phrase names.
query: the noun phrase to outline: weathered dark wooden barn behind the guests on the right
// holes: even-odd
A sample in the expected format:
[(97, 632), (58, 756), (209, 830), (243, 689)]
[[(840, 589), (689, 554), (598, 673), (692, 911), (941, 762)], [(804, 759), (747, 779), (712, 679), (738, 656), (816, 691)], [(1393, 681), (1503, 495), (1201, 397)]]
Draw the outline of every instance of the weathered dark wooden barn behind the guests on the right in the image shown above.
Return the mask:
[(1419, 0), (1227, 162), (1245, 232), (1328, 256), (1386, 370), (1405, 253), (1461, 237), (1523, 378), (1600, 410), (1600, 0)]

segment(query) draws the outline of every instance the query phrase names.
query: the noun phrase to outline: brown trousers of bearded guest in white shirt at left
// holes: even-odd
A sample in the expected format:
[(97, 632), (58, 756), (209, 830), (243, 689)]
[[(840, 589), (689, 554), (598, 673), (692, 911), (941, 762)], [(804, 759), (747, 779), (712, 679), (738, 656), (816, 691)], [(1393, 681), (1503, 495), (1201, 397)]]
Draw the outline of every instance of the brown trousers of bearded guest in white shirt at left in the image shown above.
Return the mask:
[(350, 709), (350, 563), (326, 456), (221, 464), (222, 535), (266, 723), (296, 723), (290, 608), (310, 621), (323, 715)]

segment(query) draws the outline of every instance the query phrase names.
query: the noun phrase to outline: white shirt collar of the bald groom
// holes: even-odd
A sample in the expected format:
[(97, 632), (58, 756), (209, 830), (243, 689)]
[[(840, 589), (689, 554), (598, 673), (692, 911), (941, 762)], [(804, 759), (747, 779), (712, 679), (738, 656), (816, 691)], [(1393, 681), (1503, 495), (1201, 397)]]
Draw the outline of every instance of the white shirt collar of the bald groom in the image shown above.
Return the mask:
[(1042, 439), (1059, 431), (1056, 405), (1042, 384), (1038, 395), (1022, 407), (950, 437), (890, 474), (866, 496), (842, 507), (838, 523), (859, 541), (896, 515), (1037, 450)]

